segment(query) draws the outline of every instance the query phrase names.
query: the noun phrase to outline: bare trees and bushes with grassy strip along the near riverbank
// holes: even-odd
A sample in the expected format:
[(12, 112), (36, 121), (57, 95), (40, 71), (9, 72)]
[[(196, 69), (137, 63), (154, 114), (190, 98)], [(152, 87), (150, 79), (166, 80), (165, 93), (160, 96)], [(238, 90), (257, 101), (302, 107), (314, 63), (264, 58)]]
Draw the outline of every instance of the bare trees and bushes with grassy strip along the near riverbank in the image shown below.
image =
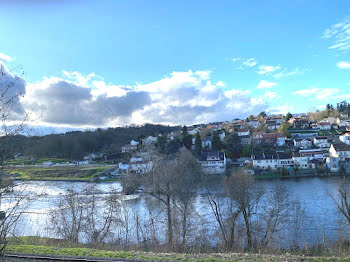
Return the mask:
[[(152, 261), (346, 261), (346, 237), (302, 241), (305, 210), (283, 183), (264, 188), (237, 169), (216, 191), (188, 150), (157, 159), (152, 174), (124, 181), (124, 190), (137, 185), (142, 200), (100, 194), (93, 185), (80, 193), (69, 190), (48, 216), (47, 230), (60, 240), (11, 238), (7, 252)], [(344, 227), (350, 224), (347, 187), (339, 185), (330, 196)], [(206, 207), (202, 214), (198, 194)], [(135, 201), (144, 201), (143, 208)], [(292, 239), (288, 245), (286, 238)]]

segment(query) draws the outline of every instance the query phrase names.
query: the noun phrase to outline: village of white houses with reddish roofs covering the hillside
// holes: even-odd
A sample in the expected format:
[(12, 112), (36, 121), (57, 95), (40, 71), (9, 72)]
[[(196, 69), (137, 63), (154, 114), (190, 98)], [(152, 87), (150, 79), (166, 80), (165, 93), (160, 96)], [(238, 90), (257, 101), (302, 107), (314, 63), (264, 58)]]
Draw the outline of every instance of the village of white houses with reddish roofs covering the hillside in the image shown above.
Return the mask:
[[(319, 120), (317, 120), (319, 118)], [(231, 122), (184, 126), (181, 131), (132, 140), (121, 148), (129, 155), (115, 174), (152, 171), (150, 148), (176, 152), (187, 147), (205, 174), (225, 174), (245, 167), (254, 175), (331, 175), (350, 173), (350, 117), (312, 114), (266, 115)]]

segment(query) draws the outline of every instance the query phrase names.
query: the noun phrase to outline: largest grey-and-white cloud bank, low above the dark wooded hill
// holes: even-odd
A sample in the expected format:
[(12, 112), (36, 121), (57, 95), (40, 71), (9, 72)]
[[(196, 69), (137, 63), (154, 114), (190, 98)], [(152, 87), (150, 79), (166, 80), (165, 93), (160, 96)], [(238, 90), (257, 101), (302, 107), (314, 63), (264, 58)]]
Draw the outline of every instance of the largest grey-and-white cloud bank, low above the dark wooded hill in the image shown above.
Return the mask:
[(40, 125), (183, 125), (246, 117), (268, 108), (249, 91), (223, 89), (222, 81), (212, 83), (210, 71), (173, 72), (133, 87), (108, 84), (95, 74), (64, 71), (63, 76), (27, 85), (21, 102), (41, 117)]

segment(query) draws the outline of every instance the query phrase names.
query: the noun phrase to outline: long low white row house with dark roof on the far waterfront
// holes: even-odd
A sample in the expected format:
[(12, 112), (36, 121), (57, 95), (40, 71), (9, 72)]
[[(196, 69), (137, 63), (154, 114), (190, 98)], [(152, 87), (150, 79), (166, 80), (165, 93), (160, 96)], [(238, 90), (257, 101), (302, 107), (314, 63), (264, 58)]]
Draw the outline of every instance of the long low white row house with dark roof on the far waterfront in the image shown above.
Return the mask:
[(259, 169), (278, 169), (280, 167), (293, 166), (291, 154), (256, 154), (252, 155), (253, 166)]

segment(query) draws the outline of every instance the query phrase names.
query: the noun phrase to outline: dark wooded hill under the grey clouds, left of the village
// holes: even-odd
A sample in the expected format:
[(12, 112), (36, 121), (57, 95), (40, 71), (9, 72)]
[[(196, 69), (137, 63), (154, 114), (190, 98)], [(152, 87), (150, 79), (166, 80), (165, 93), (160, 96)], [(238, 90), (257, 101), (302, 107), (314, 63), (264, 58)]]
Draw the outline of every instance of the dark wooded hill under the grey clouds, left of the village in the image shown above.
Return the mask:
[(181, 127), (145, 124), (143, 126), (72, 131), (45, 136), (15, 136), (8, 141), (13, 155), (81, 159), (92, 152), (117, 153), (121, 146), (144, 136), (157, 136)]

